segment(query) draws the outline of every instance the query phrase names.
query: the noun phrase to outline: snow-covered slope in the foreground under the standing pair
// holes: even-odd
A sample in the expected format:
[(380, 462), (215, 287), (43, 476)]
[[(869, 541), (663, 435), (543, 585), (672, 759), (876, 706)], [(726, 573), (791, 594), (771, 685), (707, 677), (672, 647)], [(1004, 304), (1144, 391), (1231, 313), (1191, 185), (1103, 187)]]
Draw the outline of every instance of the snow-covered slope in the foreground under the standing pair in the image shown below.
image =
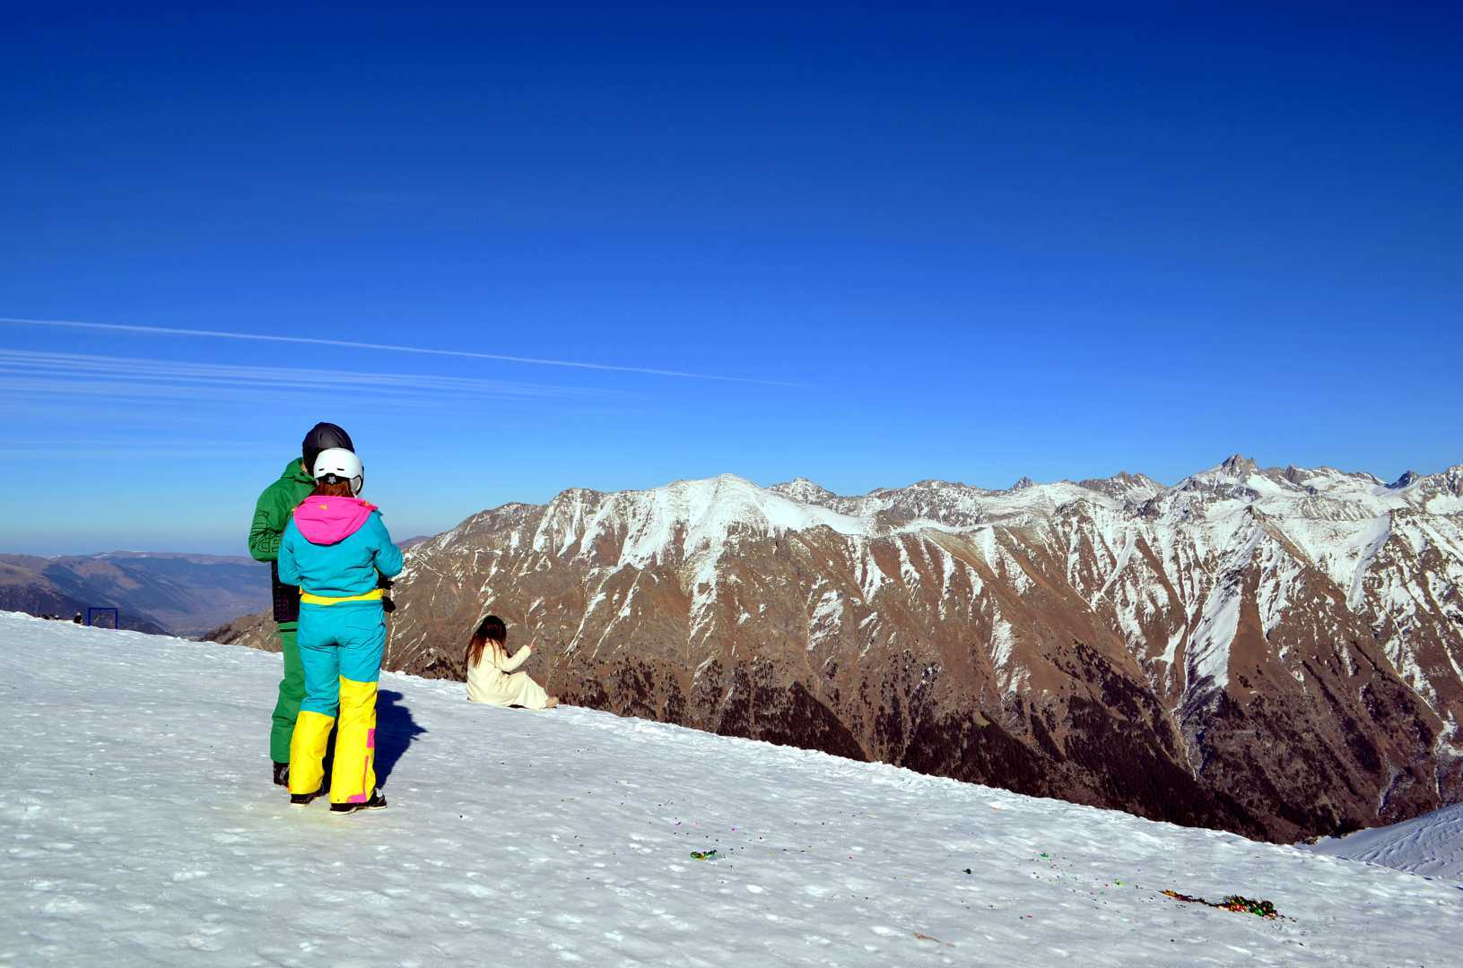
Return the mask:
[(407, 676), (382, 677), (391, 809), (291, 809), (265, 753), (277, 655), (4, 613), (0, 668), (4, 965), (1451, 965), (1463, 948), (1463, 891), (1415, 874)]

